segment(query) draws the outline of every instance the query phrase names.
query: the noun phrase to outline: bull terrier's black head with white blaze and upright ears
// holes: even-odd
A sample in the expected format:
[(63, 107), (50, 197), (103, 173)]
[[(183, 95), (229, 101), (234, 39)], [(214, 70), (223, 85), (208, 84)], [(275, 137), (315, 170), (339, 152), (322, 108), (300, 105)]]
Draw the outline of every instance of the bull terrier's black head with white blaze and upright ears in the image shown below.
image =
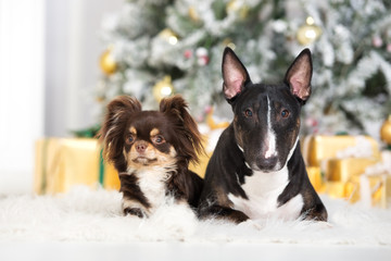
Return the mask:
[(223, 60), (224, 94), (231, 103), (235, 136), (247, 163), (256, 171), (279, 171), (297, 142), (300, 109), (311, 94), (311, 52), (304, 50), (283, 84), (252, 84), (231, 49)]

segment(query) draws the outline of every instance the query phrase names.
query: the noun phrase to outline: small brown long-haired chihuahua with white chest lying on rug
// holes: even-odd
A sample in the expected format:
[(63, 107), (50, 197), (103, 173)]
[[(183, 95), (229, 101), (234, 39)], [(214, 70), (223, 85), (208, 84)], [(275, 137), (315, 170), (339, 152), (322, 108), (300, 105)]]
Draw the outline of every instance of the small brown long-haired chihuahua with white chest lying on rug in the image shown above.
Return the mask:
[(142, 111), (129, 96), (115, 98), (100, 140), (105, 160), (118, 171), (124, 214), (148, 217), (167, 198), (197, 208), (203, 179), (188, 166), (204, 149), (180, 96), (163, 99), (159, 111)]

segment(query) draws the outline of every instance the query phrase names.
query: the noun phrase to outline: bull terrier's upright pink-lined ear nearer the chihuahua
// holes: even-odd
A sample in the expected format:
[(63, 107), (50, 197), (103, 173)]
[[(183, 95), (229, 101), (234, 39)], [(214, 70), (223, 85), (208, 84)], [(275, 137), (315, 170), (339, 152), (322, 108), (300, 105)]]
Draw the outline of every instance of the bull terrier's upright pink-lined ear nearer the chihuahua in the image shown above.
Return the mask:
[(235, 54), (232, 49), (226, 47), (223, 54), (223, 91), (228, 101), (239, 95), (247, 82), (250, 82), (250, 76), (244, 65)]

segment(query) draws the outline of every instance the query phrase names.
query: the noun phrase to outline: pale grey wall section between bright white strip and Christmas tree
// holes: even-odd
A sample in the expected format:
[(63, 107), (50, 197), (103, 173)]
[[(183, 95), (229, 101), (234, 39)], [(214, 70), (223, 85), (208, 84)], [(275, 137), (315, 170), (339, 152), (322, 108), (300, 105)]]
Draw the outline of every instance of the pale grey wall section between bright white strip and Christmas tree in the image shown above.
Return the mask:
[(100, 76), (99, 34), (104, 15), (124, 0), (47, 0), (46, 124), (48, 136), (94, 124), (93, 90)]

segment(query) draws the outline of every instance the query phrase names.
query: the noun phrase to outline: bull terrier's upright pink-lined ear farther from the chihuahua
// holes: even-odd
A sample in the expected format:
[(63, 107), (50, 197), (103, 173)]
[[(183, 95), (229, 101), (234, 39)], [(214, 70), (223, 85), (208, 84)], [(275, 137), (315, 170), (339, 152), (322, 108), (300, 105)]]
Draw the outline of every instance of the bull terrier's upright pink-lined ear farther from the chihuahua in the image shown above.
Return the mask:
[(311, 51), (304, 49), (294, 59), (285, 76), (285, 82), (289, 85), (292, 95), (303, 101), (306, 101), (311, 95), (312, 71)]

